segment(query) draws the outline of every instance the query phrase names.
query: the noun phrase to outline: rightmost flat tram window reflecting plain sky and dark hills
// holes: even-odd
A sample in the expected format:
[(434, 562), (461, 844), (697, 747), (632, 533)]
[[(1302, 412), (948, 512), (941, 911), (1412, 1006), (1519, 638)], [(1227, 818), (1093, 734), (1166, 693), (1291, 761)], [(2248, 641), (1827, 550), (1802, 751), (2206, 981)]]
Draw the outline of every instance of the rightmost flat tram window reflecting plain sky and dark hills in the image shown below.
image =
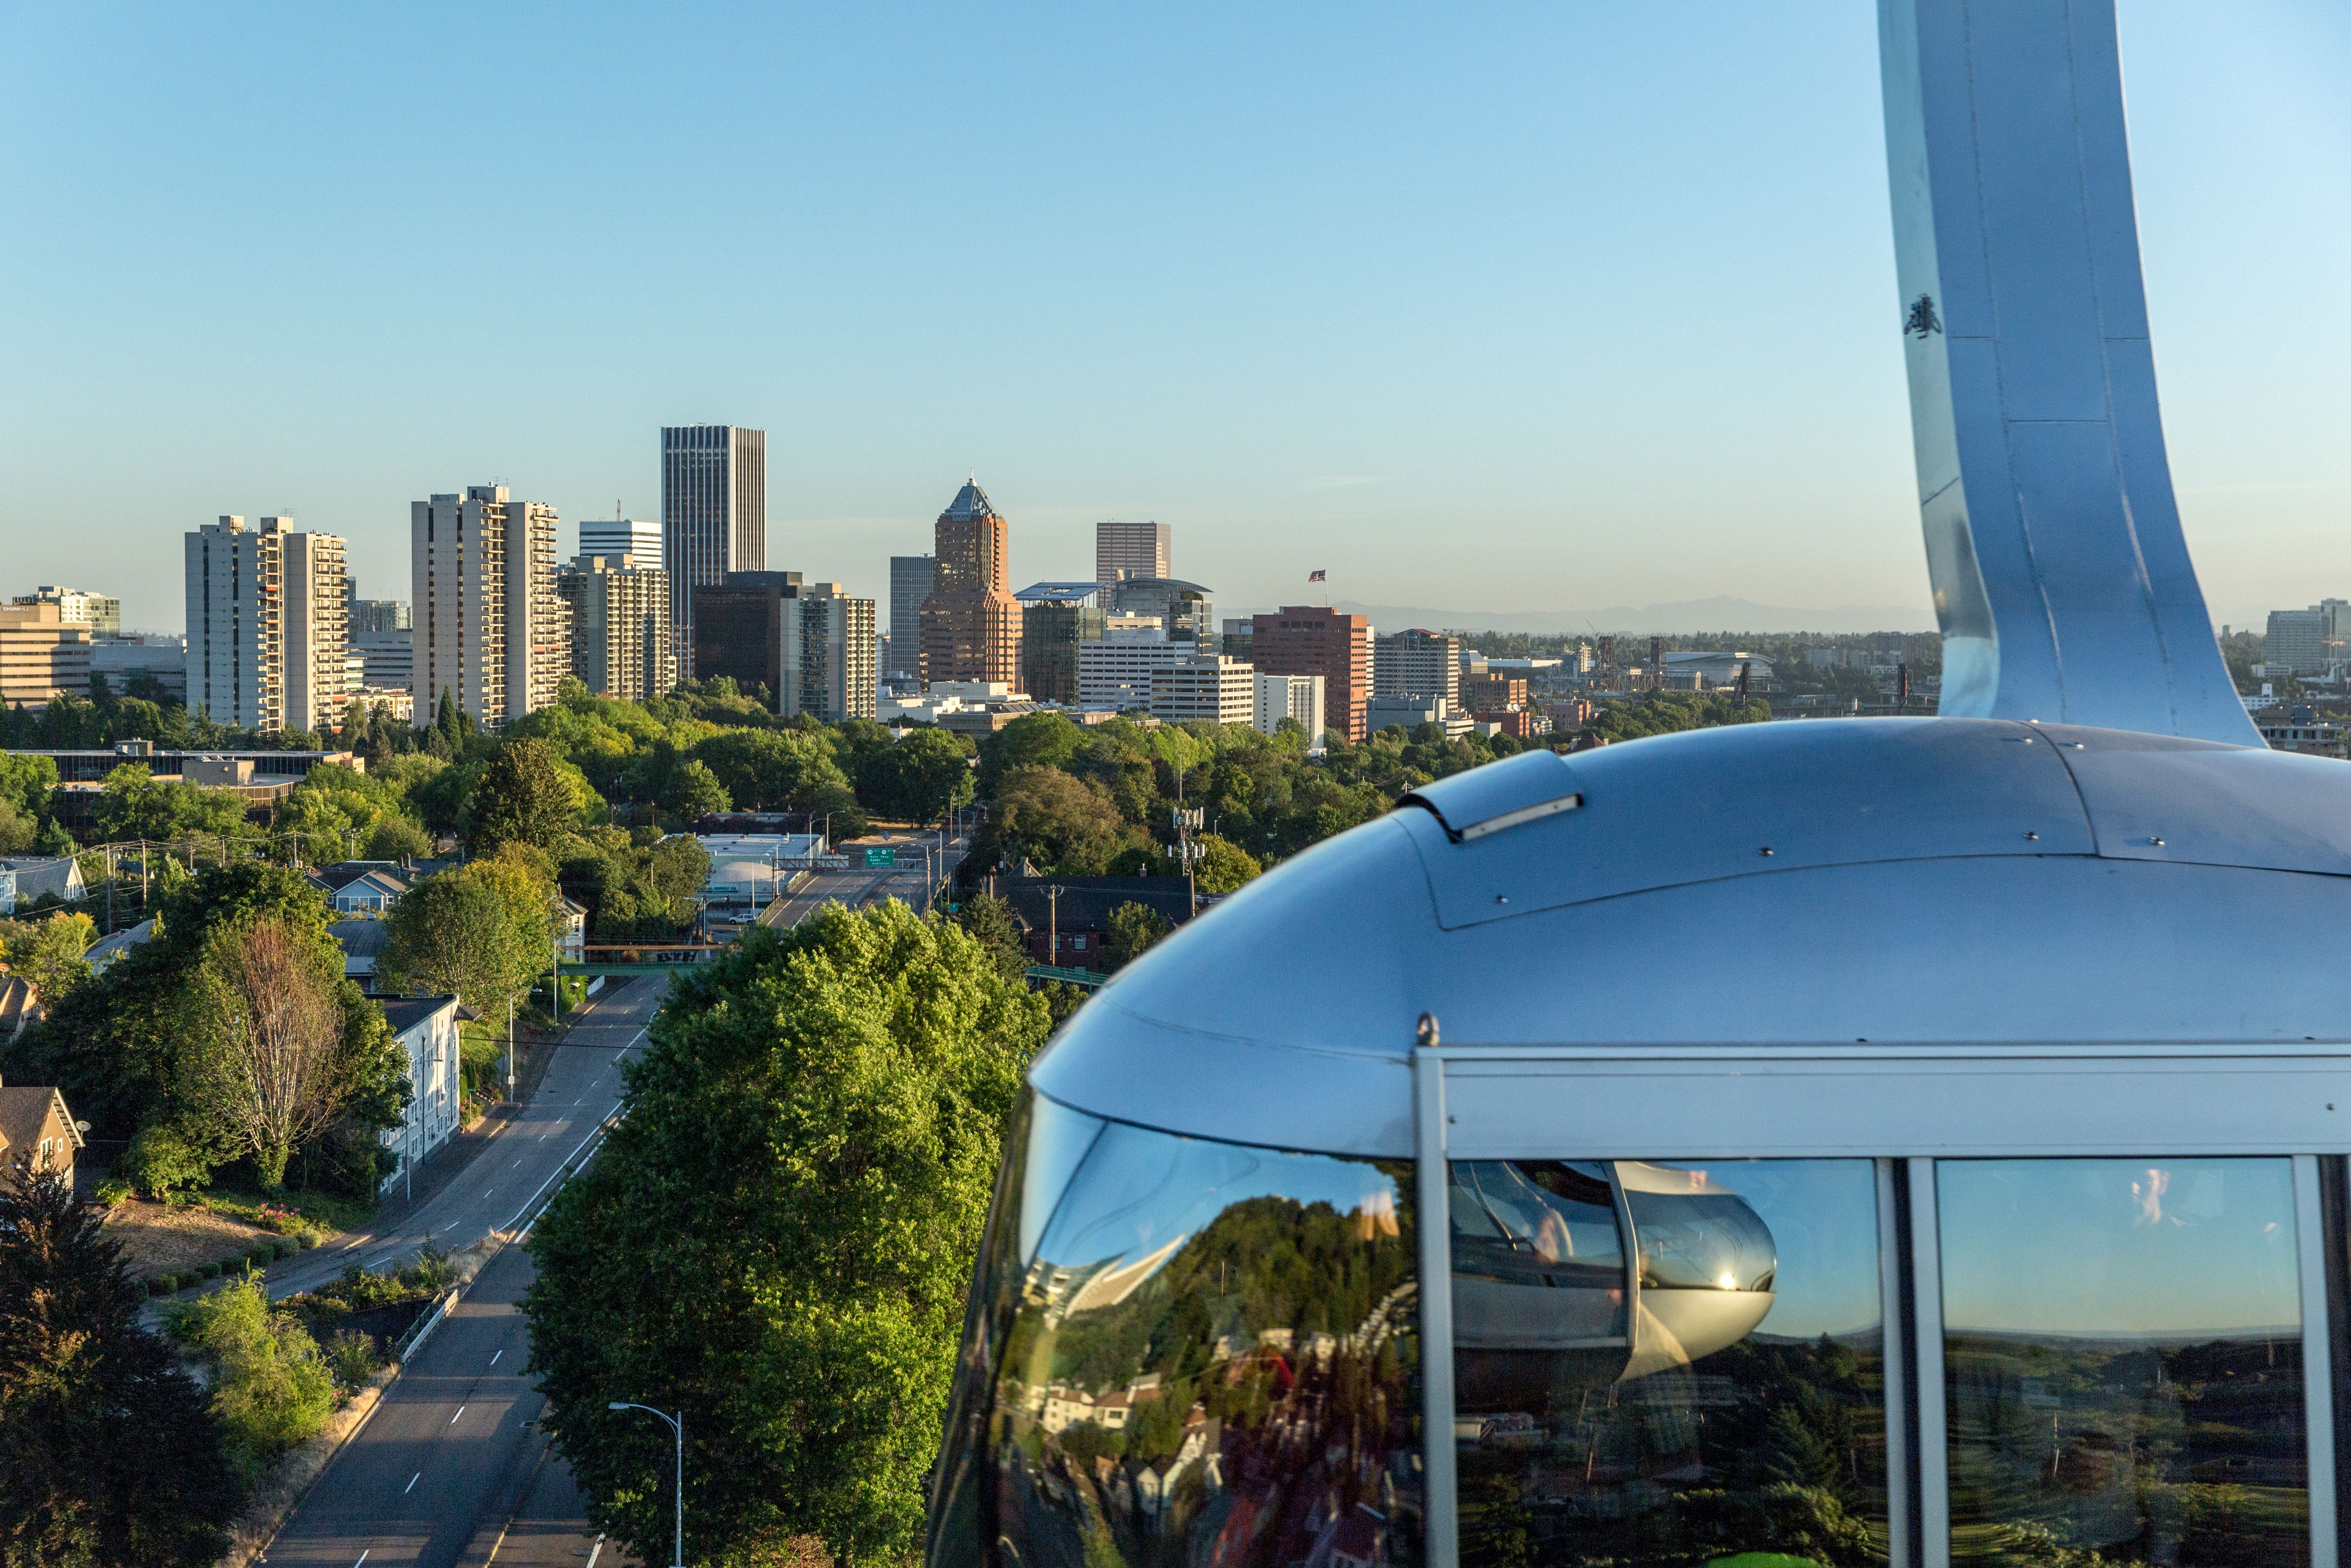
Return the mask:
[(1951, 1561), (2309, 1561), (2292, 1161), (1940, 1161)]

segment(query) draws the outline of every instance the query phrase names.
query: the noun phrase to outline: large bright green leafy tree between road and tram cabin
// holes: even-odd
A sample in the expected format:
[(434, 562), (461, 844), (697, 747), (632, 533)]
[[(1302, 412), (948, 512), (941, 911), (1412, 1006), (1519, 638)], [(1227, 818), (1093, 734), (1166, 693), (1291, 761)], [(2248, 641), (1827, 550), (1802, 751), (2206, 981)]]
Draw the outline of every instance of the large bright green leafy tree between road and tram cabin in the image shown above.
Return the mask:
[(1046, 1006), (900, 903), (752, 931), (682, 973), (628, 1110), (531, 1241), (545, 1425), (600, 1528), (686, 1561), (816, 1535), (900, 1563), (922, 1533), (997, 1143)]

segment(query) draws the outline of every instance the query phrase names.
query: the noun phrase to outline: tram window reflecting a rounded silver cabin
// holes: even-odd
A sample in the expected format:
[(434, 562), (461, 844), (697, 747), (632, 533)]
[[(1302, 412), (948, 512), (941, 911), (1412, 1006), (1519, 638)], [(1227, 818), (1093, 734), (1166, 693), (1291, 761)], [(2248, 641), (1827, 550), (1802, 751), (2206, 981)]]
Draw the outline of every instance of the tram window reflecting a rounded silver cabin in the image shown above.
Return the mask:
[(1871, 1161), (1451, 1175), (1465, 1568), (1888, 1559)]

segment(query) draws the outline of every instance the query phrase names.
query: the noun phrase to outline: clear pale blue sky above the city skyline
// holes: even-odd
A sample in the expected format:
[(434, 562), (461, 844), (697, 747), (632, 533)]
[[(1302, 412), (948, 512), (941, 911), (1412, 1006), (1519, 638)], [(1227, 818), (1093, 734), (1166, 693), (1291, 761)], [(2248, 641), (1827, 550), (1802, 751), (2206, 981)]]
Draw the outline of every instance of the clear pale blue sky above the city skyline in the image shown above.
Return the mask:
[[(2351, 14), (2123, 49), (2215, 616), (2351, 592)], [(1925, 604), (1857, 0), (24, 5), (0, 226), (0, 588), (141, 625), (219, 512), (407, 597), (411, 498), (656, 515), (689, 421), (875, 595), (976, 470), (1020, 581)]]

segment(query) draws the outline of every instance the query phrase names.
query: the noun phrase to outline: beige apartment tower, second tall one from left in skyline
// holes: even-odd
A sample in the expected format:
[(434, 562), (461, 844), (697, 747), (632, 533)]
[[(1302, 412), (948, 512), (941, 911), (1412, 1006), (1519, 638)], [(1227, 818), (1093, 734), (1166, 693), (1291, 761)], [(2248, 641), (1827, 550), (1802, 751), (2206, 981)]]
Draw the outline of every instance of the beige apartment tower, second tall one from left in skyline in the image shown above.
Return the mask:
[(555, 701), (571, 628), (555, 592), (555, 508), (503, 484), (409, 503), (416, 717), (449, 691), (484, 729)]

